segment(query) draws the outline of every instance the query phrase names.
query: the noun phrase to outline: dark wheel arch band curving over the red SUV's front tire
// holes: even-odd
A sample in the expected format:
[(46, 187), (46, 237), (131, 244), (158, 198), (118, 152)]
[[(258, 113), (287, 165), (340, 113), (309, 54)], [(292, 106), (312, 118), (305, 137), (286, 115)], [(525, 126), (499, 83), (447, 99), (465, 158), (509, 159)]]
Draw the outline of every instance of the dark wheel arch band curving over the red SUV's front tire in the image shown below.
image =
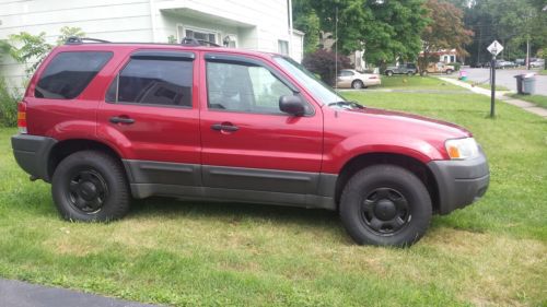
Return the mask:
[(340, 198), (344, 191), (344, 187), (349, 181), (349, 179), (359, 170), (368, 166), (377, 164), (392, 164), (400, 166), (415, 174), (423, 182), (431, 197), (433, 212), (439, 212), (439, 186), (435, 181), (434, 175), (431, 173), (429, 167), (424, 163), (411, 156), (387, 152), (360, 154), (349, 160), (342, 166), (338, 175), (338, 179), (336, 180), (335, 187), (335, 202), (337, 208), (340, 204)]

